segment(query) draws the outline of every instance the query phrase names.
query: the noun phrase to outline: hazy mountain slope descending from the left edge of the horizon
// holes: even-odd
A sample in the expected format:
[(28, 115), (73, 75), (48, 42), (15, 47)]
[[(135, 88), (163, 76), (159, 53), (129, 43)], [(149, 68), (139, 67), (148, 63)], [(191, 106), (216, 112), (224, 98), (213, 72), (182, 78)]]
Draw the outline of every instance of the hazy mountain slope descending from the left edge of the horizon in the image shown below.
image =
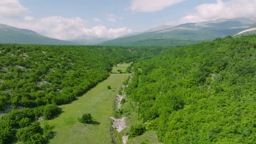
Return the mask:
[(0, 24), (0, 44), (77, 45), (71, 41), (53, 39), (28, 29), (2, 24)]

